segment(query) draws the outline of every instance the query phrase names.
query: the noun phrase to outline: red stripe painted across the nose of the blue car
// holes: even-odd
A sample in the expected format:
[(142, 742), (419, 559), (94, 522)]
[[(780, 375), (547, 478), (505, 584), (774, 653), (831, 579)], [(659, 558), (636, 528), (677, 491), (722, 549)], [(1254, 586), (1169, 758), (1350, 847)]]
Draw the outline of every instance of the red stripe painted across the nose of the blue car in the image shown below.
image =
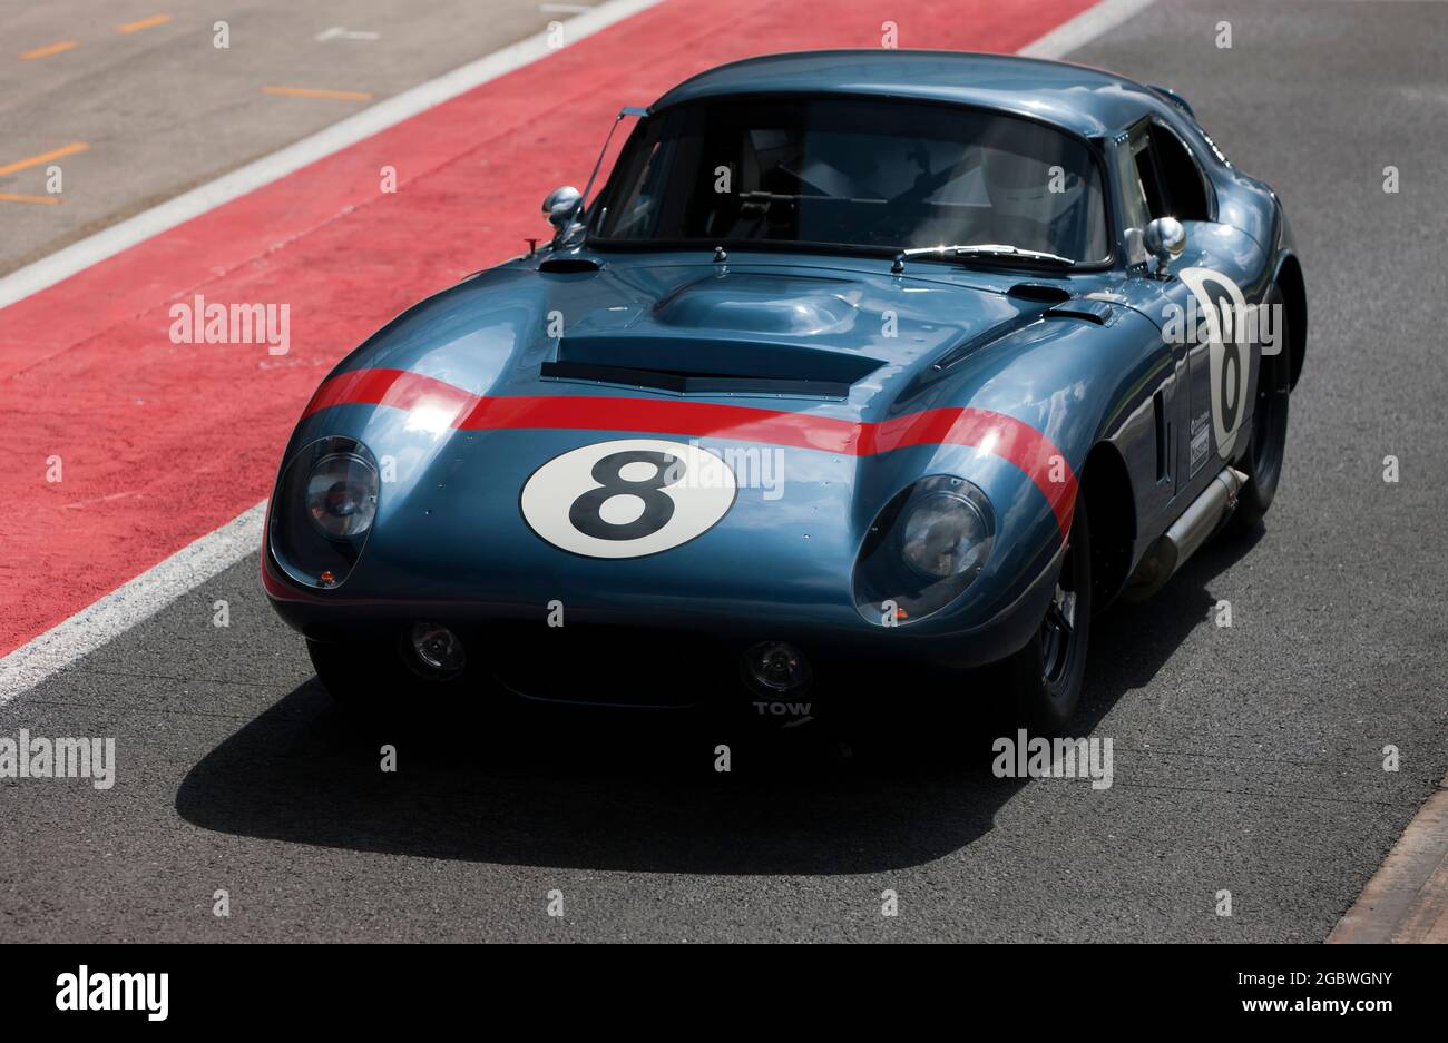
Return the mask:
[[(883, 422), (746, 405), (602, 395), (510, 395), (489, 398), (401, 369), (359, 369), (323, 383), (307, 404), (310, 417), (337, 405), (437, 409), (460, 431), (546, 428), (650, 431), (695, 438), (763, 441), (827, 453), (872, 456), (908, 446), (972, 446), (1009, 460), (1041, 490), (1061, 529), (1072, 528), (1076, 474), (1066, 457), (1030, 424), (990, 409), (925, 409)], [(1058, 479), (1054, 476), (1060, 476)]]

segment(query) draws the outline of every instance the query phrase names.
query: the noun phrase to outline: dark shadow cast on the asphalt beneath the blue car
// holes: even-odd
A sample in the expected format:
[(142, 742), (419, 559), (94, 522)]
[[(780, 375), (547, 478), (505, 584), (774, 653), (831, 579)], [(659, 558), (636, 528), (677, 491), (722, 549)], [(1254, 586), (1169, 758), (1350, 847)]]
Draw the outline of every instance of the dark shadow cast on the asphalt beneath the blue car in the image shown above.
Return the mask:
[[(1154, 600), (1098, 621), (1076, 735), (1206, 623), (1211, 580), (1254, 542), (1212, 544)], [(999, 718), (892, 716), (766, 733), (618, 712), (433, 713), (404, 729), (352, 723), (313, 680), (207, 754), (177, 810), (223, 833), (502, 865), (880, 872), (972, 843), (1024, 784), (990, 771), (993, 736), (1012, 731)]]

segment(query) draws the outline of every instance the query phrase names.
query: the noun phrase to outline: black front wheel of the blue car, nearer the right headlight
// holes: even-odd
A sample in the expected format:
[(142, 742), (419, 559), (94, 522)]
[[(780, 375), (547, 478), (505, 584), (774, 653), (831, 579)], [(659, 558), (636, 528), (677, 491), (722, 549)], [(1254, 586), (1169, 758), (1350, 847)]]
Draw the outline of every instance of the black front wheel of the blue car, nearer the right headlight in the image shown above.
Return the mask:
[(1040, 628), (1002, 664), (1016, 718), (1031, 735), (1061, 735), (1082, 696), (1090, 637), (1090, 519), (1076, 498), (1056, 595)]

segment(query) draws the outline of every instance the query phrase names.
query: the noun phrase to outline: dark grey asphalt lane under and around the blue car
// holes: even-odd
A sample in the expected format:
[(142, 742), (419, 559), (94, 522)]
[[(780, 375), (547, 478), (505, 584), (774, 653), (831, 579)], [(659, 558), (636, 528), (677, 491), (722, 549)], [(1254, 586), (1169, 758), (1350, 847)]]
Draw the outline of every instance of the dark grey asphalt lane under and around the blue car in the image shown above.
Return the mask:
[(1448, 4), (1163, 1), (1073, 55), (1177, 87), (1276, 185), (1312, 312), (1266, 531), (1093, 632), (1109, 790), (995, 780), (928, 710), (928, 744), (811, 725), (728, 775), (692, 725), (443, 723), (382, 774), (253, 555), (0, 710), (120, 759), (106, 793), (0, 783), (0, 940), (1322, 940), (1448, 771), (1444, 39)]

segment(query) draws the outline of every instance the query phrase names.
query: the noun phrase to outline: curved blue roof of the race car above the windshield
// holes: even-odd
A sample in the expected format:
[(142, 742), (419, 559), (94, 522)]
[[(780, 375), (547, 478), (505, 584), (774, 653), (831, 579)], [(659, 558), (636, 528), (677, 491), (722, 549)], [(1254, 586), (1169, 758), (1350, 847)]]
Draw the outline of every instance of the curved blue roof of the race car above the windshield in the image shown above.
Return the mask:
[(999, 108), (1093, 137), (1160, 111), (1156, 91), (1112, 72), (1015, 55), (960, 51), (801, 51), (720, 65), (666, 93), (652, 110), (738, 94), (875, 94)]

